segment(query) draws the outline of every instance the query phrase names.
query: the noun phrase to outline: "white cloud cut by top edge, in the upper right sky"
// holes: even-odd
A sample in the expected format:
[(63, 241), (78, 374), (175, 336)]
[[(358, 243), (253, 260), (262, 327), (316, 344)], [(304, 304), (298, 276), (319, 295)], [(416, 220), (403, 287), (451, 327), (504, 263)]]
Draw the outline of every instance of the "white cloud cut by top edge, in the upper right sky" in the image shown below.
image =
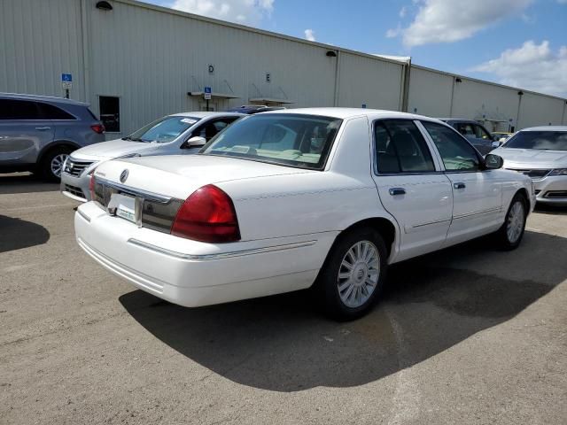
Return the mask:
[(520, 15), (533, 0), (419, 0), (416, 18), (400, 34), (408, 47), (457, 42), (501, 19)]

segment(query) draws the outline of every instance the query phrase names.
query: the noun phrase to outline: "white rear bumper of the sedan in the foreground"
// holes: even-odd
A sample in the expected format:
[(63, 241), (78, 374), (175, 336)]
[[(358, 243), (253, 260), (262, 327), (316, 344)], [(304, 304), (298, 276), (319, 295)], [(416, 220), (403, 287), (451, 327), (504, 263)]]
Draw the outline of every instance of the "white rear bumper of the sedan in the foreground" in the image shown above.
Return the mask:
[(113, 274), (190, 307), (308, 288), (336, 236), (199, 243), (137, 228), (92, 202), (79, 207), (74, 225), (79, 246)]

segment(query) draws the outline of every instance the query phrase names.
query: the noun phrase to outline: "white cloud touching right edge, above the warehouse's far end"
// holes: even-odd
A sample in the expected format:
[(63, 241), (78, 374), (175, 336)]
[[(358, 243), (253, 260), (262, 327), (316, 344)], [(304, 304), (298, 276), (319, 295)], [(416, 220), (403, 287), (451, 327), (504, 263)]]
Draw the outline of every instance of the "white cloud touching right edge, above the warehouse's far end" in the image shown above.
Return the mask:
[(504, 50), (472, 71), (492, 73), (501, 83), (555, 96), (567, 96), (567, 46), (551, 50), (549, 42), (524, 42), (517, 49)]

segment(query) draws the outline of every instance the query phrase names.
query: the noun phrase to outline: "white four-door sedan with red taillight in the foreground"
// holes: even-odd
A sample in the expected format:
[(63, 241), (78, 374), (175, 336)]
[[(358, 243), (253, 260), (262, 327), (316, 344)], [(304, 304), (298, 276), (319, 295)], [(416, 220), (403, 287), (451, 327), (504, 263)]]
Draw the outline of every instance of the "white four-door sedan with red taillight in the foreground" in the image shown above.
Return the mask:
[(265, 112), (193, 156), (111, 160), (75, 214), (84, 251), (185, 306), (313, 286), (353, 319), (387, 267), (494, 233), (516, 248), (532, 181), (447, 124), (367, 109)]

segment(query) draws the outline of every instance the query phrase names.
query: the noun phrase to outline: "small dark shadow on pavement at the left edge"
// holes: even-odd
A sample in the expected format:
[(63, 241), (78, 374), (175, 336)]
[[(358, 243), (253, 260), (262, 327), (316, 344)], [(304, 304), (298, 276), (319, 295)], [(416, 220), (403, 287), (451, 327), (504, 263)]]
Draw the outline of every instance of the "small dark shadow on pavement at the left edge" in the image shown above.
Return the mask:
[(0, 214), (0, 252), (41, 245), (50, 239), (47, 228)]

